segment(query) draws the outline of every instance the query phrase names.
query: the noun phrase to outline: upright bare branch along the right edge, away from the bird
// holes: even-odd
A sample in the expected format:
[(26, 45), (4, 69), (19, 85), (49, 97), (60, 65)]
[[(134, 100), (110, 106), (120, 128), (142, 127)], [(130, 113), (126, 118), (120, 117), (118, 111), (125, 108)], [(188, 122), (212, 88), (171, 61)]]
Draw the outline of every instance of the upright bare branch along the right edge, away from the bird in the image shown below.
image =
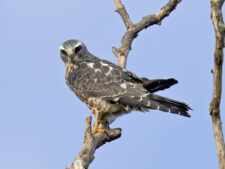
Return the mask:
[(220, 102), (222, 95), (222, 68), (224, 48), (224, 22), (222, 6), (224, 0), (211, 1), (211, 18), (215, 30), (215, 52), (213, 73), (213, 96), (210, 103), (210, 115), (213, 123), (214, 137), (217, 148), (217, 157), (220, 169), (225, 169), (225, 146), (220, 118)]

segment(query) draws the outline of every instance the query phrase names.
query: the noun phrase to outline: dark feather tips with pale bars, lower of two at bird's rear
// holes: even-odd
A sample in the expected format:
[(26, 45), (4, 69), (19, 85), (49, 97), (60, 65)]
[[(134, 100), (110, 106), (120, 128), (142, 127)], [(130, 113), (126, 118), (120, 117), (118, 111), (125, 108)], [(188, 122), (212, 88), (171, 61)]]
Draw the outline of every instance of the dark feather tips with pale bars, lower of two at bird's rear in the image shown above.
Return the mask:
[(158, 109), (164, 112), (170, 112), (174, 114), (179, 114), (186, 117), (191, 117), (190, 114), (188, 114), (188, 110), (191, 110), (191, 108), (182, 102), (172, 100), (166, 97), (158, 96), (155, 94), (150, 94), (150, 105), (149, 107), (151, 109)]

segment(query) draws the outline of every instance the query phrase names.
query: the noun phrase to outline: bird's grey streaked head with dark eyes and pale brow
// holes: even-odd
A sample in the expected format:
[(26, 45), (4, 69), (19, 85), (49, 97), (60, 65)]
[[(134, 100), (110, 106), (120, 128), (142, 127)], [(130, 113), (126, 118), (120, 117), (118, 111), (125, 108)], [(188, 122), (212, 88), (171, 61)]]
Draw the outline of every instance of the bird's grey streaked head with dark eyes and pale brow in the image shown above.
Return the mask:
[(60, 56), (65, 64), (78, 64), (89, 57), (89, 52), (83, 42), (71, 39), (60, 46)]

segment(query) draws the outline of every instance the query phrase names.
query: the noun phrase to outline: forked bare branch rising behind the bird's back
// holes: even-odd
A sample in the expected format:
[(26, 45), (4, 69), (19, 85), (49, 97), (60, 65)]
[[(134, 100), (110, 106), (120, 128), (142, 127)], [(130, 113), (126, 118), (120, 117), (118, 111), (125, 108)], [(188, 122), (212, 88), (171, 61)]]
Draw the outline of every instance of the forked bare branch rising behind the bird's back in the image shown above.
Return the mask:
[(147, 15), (143, 17), (143, 19), (137, 24), (132, 24), (124, 5), (120, 0), (115, 0), (115, 4), (117, 7), (116, 12), (120, 14), (124, 24), (127, 27), (127, 31), (125, 32), (121, 40), (121, 47), (119, 49), (113, 47), (113, 53), (118, 58), (119, 66), (123, 68), (126, 67), (127, 56), (129, 54), (129, 51), (131, 50), (131, 44), (137, 37), (138, 33), (153, 24), (160, 25), (161, 21), (166, 16), (168, 16), (180, 2), (181, 0), (170, 0), (158, 13), (154, 15)]

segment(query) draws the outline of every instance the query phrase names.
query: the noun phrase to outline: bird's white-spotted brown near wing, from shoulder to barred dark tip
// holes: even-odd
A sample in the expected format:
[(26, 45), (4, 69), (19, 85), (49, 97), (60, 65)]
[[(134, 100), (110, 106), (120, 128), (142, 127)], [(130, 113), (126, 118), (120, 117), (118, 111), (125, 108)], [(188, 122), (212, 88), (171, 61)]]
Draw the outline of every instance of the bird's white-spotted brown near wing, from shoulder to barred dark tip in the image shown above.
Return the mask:
[(83, 62), (68, 77), (71, 88), (86, 97), (104, 98), (134, 110), (159, 109), (189, 117), (190, 107), (182, 102), (149, 93), (137, 76), (104, 60)]

